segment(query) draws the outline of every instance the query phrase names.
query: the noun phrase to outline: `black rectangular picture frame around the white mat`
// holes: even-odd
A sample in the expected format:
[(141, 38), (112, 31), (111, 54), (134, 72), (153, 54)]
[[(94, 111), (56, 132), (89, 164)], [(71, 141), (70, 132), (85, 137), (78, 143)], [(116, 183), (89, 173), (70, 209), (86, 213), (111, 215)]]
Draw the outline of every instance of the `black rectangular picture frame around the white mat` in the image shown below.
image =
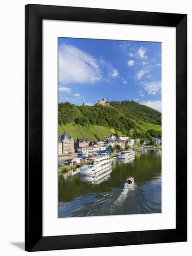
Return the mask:
[[(42, 235), (44, 19), (176, 27), (176, 229), (68, 236)], [(187, 15), (30, 4), (25, 7), (25, 20), (26, 251), (187, 241)]]

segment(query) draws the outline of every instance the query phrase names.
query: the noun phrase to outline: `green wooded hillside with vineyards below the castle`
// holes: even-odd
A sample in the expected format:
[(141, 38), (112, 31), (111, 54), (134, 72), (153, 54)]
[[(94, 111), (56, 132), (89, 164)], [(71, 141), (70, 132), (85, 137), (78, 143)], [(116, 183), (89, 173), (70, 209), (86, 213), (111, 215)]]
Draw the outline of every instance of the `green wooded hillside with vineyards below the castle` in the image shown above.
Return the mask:
[(134, 101), (111, 101), (110, 106), (76, 106), (58, 104), (59, 135), (64, 131), (76, 140), (104, 139), (118, 133), (132, 138), (161, 137), (161, 113)]

